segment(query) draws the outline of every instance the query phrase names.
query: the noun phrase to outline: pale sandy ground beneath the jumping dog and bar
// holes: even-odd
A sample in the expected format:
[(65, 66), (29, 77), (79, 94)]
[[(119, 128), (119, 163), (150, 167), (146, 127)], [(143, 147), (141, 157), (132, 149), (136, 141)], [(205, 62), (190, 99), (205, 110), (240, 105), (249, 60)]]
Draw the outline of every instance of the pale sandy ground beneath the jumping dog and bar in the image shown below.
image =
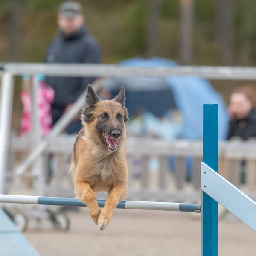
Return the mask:
[[(42, 256), (200, 256), (201, 221), (194, 214), (115, 209), (102, 231), (82, 208), (68, 213), (68, 233), (30, 224), (24, 235)], [(219, 256), (256, 255), (256, 232), (241, 221), (219, 221), (218, 233)]]

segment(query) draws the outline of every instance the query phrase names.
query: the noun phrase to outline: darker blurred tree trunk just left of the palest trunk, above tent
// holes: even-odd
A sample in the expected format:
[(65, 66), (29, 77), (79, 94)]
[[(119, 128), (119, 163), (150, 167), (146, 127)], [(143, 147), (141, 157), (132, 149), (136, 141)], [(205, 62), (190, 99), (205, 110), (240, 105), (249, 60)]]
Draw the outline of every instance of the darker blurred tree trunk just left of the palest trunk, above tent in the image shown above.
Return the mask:
[(159, 46), (159, 20), (161, 0), (148, 0), (148, 32), (147, 52), (148, 58), (158, 54)]

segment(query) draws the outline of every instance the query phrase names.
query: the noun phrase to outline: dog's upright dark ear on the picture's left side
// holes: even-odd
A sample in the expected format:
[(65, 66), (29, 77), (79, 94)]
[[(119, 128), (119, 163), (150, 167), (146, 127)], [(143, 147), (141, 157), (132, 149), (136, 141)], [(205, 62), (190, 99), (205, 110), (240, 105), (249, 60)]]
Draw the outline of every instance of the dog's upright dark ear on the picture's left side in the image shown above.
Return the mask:
[(99, 97), (94, 92), (93, 88), (88, 85), (87, 93), (85, 96), (85, 103), (81, 111), (81, 121), (92, 122), (93, 121), (93, 111), (95, 104), (100, 102)]

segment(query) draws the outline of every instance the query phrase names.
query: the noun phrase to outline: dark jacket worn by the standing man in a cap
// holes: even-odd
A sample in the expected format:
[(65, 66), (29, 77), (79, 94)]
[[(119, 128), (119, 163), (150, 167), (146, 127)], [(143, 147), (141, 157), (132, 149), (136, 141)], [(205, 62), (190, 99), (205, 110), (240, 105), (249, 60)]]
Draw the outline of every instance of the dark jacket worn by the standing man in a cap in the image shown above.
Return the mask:
[[(72, 35), (59, 32), (50, 43), (44, 62), (46, 63), (92, 63), (101, 62), (101, 51), (96, 41), (88, 34), (86, 26), (82, 26)], [(64, 108), (73, 103), (86, 90), (96, 77), (54, 77), (46, 78), (55, 91), (52, 107)]]

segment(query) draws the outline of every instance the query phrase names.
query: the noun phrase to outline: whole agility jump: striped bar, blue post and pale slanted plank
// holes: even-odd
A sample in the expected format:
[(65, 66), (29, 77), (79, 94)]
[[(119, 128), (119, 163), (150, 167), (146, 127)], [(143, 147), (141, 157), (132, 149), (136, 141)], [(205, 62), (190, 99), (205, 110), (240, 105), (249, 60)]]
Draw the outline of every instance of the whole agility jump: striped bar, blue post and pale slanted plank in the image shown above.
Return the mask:
[[(256, 231), (256, 202), (218, 174), (218, 105), (204, 105), (201, 205), (121, 201), (117, 208), (201, 212), (201, 256), (218, 256), (218, 203)], [(86, 206), (74, 198), (0, 195), (1, 203)], [(99, 207), (105, 201), (98, 200)]]

